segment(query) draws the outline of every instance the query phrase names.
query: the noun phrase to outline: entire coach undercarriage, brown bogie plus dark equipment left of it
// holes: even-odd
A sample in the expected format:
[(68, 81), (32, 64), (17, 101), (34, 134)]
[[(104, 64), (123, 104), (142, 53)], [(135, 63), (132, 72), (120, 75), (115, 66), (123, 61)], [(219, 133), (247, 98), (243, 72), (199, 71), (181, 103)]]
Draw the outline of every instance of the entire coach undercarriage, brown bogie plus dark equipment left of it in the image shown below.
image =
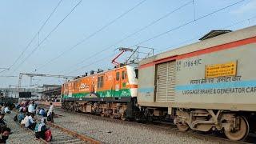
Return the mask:
[(139, 117), (149, 121), (166, 121), (173, 118), (178, 130), (199, 130), (224, 132), (231, 140), (244, 140), (249, 131), (256, 131), (255, 116), (252, 113), (228, 110), (175, 109), (173, 114), (161, 107), (142, 107)]

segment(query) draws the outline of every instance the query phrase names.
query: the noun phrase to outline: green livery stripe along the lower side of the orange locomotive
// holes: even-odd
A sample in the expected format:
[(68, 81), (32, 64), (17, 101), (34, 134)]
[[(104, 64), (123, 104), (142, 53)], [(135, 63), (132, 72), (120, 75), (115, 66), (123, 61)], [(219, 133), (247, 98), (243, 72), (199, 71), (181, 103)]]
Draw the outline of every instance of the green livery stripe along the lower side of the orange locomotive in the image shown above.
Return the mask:
[[(94, 95), (94, 94), (92, 94)], [(121, 90), (103, 90), (96, 92), (97, 97), (99, 98), (109, 98), (109, 97), (130, 97), (130, 89), (121, 89)], [(72, 95), (62, 94), (63, 98), (93, 98), (90, 96), (90, 93), (75, 93)]]

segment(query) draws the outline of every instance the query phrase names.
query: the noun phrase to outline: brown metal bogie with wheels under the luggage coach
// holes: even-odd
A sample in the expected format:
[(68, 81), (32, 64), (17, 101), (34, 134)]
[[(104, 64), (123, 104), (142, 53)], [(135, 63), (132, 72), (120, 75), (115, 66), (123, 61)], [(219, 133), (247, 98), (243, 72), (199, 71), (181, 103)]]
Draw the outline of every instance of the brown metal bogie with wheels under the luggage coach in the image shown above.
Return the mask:
[(248, 114), (225, 110), (176, 110), (174, 123), (182, 131), (218, 130), (231, 140), (242, 140), (249, 134), (248, 118)]

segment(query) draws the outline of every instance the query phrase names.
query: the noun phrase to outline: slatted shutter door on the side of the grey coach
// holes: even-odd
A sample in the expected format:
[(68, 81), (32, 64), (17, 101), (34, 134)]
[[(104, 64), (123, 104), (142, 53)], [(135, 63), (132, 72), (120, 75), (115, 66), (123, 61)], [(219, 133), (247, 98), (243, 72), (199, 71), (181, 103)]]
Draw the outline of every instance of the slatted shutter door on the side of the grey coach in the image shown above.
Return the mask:
[(173, 102), (175, 93), (175, 61), (157, 66), (156, 102)]

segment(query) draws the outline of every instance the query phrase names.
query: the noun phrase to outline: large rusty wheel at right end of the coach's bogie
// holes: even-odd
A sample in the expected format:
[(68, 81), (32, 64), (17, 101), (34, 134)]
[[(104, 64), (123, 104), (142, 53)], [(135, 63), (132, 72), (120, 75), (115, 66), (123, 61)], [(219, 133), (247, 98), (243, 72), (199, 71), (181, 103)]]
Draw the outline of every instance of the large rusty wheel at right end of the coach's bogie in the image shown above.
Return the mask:
[(238, 116), (238, 119), (240, 119), (239, 130), (235, 130), (235, 131), (224, 130), (226, 137), (229, 138), (230, 140), (234, 140), (234, 141), (244, 140), (249, 134), (250, 128), (246, 118), (243, 116)]

